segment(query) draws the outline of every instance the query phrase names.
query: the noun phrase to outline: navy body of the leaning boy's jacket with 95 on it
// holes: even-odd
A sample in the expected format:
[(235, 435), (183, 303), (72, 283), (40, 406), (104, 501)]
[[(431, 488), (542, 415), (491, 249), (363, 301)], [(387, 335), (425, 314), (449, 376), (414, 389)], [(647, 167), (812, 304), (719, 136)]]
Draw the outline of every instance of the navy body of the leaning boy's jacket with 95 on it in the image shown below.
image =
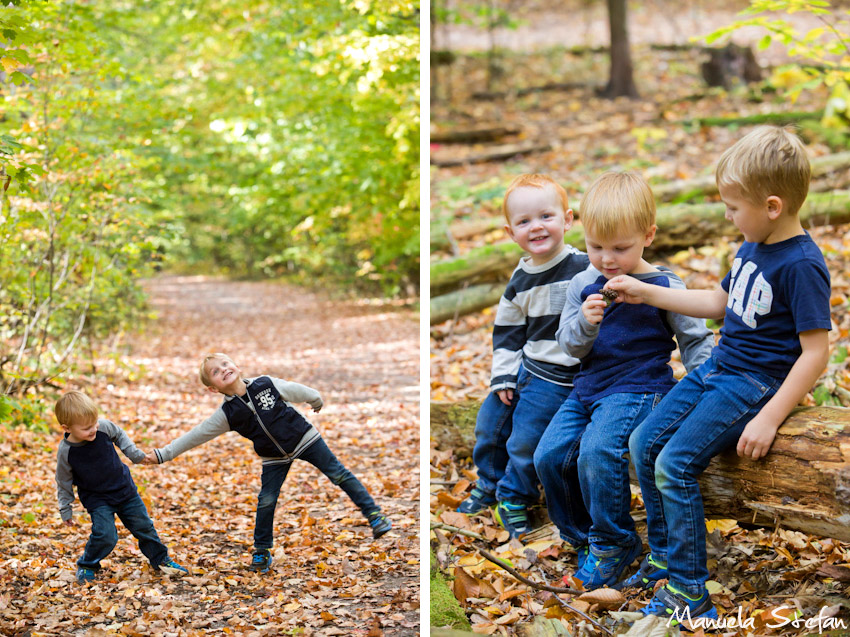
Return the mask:
[(239, 397), (225, 400), (221, 406), (231, 431), (253, 442), (259, 456), (281, 458), (292, 453), (312, 425), (283, 400), (268, 376), (259, 376), (248, 385), (248, 397), (256, 415)]

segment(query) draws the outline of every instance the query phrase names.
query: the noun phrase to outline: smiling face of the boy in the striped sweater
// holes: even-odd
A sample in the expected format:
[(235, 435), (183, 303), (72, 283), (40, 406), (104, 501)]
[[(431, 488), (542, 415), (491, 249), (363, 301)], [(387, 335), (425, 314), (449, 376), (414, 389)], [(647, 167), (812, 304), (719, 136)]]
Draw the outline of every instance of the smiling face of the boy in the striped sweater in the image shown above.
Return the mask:
[(505, 232), (531, 255), (533, 265), (543, 265), (564, 249), (573, 213), (564, 210), (552, 186), (516, 188), (508, 195), (506, 208)]

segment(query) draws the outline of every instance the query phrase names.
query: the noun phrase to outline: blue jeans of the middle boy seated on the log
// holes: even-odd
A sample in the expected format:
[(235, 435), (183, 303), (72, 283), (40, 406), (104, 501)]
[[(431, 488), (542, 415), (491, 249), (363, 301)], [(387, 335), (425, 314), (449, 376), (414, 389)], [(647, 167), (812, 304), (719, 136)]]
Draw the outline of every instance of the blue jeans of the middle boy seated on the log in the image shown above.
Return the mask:
[(639, 542), (629, 514), (629, 435), (660, 394), (611, 394), (585, 405), (565, 401), (537, 447), (534, 465), (549, 519), (574, 547)]

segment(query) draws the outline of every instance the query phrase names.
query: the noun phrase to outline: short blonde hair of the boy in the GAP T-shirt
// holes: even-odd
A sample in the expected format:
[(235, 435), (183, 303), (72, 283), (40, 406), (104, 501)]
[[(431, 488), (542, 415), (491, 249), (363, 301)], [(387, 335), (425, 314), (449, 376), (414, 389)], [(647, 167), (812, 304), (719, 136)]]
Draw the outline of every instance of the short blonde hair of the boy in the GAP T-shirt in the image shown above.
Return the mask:
[(776, 196), (797, 214), (809, 194), (812, 166), (792, 128), (759, 126), (726, 149), (715, 176), (718, 187), (736, 187), (751, 203)]

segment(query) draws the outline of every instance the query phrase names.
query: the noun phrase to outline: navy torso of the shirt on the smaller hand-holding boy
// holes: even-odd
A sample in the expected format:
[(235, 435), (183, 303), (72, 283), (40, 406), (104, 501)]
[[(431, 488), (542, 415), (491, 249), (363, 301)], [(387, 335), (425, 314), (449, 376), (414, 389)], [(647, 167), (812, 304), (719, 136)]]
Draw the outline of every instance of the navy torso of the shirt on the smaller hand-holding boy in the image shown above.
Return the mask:
[(108, 435), (98, 431), (91, 442), (69, 444), (68, 464), (77, 495), (87, 511), (105, 504), (118, 505), (133, 497), (136, 484), (130, 469), (121, 462)]

